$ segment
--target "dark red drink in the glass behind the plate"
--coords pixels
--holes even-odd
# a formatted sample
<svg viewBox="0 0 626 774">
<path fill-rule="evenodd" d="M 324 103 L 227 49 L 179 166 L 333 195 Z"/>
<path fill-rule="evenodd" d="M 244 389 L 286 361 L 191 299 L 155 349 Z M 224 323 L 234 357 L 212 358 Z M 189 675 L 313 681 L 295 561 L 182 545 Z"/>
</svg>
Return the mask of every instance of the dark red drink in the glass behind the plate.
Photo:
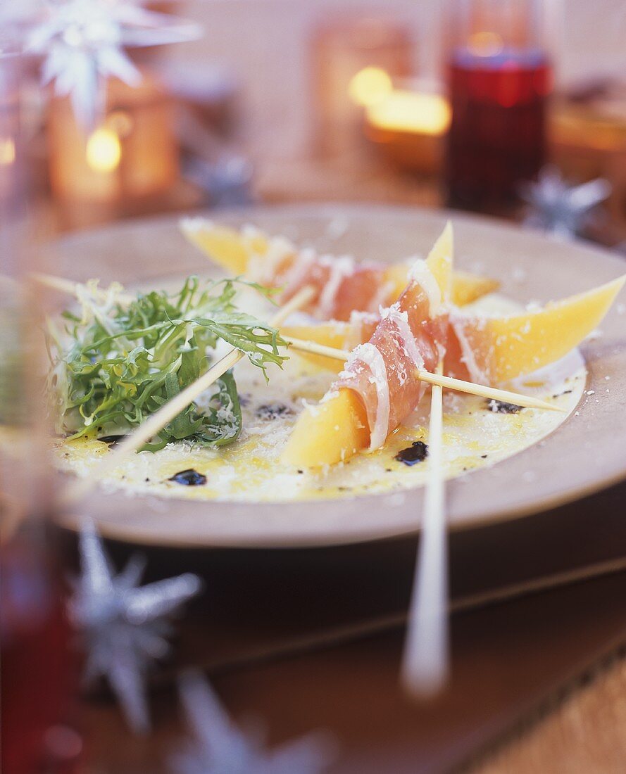
<svg viewBox="0 0 626 774">
<path fill-rule="evenodd" d="M 539 52 L 454 54 L 445 165 L 450 206 L 497 210 L 514 203 L 519 183 L 545 163 L 550 85 L 551 69 Z"/>
</svg>

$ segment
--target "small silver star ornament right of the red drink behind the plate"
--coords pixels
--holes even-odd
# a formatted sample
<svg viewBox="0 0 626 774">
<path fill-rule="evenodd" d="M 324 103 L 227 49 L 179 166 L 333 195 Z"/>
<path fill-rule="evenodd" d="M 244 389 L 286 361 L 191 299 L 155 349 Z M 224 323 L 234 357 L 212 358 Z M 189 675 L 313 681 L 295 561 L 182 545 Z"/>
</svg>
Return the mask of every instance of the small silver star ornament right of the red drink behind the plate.
<svg viewBox="0 0 626 774">
<path fill-rule="evenodd" d="M 597 178 L 570 186 L 554 167 L 545 167 L 536 183 L 525 183 L 521 197 L 528 204 L 524 224 L 542 228 L 561 238 L 580 235 L 593 217 L 593 209 L 611 194 L 611 184 Z"/>
</svg>

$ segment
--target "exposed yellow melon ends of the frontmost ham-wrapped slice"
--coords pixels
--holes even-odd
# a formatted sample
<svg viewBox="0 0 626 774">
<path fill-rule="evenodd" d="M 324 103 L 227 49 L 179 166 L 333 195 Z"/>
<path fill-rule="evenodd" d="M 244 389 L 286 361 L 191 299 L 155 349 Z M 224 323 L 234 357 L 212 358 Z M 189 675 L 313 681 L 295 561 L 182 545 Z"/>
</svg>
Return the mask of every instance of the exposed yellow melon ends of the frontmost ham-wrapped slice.
<svg viewBox="0 0 626 774">
<path fill-rule="evenodd" d="M 442 298 L 447 298 L 452 274 L 452 226 L 449 223 L 435 242 L 426 263 L 439 284 Z M 324 327 L 328 331 L 328 340 L 332 341 L 332 324 Z M 282 460 L 295 467 L 323 467 L 346 461 L 369 445 L 370 428 L 365 406 L 356 392 L 342 388 L 318 406 L 304 409 Z"/>
</svg>

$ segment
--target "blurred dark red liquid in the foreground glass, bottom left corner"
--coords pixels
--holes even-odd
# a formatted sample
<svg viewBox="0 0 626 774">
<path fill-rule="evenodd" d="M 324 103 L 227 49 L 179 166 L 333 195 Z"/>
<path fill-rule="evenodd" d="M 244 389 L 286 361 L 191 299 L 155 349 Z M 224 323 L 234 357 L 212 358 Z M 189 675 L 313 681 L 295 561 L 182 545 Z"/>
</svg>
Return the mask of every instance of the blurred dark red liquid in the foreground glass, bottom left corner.
<svg viewBox="0 0 626 774">
<path fill-rule="evenodd" d="M 50 570 L 46 557 L 19 539 L 0 549 L 3 774 L 74 771 L 67 739 L 70 748 L 80 740 L 62 725 L 74 687 L 70 632 Z"/>
</svg>

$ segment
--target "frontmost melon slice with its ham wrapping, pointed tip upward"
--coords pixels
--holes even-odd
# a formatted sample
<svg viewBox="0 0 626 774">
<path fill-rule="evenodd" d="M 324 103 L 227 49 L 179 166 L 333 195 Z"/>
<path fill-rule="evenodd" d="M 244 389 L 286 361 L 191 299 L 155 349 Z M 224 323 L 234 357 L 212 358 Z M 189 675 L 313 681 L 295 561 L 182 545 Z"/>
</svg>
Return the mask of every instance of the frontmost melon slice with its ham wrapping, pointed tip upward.
<svg viewBox="0 0 626 774">
<path fill-rule="evenodd" d="M 319 467 L 376 450 L 417 408 L 425 385 L 416 372 L 435 370 L 445 355 L 451 268 L 448 225 L 427 261 L 414 263 L 397 302 L 380 310 L 370 340 L 353 350 L 322 402 L 304 409 L 285 461 Z"/>
</svg>

